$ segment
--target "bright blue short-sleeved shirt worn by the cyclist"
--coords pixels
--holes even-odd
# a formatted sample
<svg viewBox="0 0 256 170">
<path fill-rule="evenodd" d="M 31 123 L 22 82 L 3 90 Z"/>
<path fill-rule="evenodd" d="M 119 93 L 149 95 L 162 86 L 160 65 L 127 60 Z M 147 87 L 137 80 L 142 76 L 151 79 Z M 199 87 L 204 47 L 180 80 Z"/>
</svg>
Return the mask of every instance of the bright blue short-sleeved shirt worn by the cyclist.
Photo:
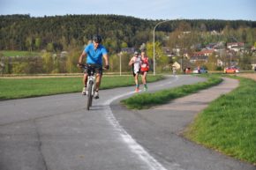
<svg viewBox="0 0 256 170">
<path fill-rule="evenodd" d="M 102 65 L 102 55 L 108 54 L 108 51 L 102 44 L 98 48 L 94 49 L 94 44 L 91 43 L 85 48 L 87 53 L 87 63 L 100 64 Z"/>
</svg>

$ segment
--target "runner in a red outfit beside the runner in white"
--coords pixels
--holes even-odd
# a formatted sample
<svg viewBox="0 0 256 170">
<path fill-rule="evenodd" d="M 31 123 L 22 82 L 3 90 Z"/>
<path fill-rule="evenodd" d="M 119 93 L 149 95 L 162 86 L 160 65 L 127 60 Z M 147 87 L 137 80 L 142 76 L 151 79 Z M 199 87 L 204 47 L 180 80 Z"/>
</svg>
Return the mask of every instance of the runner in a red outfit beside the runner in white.
<svg viewBox="0 0 256 170">
<path fill-rule="evenodd" d="M 140 74 L 142 78 L 142 83 L 144 85 L 144 91 L 147 91 L 147 72 L 149 70 L 148 57 L 146 51 L 141 51 L 141 64 L 140 64 Z"/>
</svg>

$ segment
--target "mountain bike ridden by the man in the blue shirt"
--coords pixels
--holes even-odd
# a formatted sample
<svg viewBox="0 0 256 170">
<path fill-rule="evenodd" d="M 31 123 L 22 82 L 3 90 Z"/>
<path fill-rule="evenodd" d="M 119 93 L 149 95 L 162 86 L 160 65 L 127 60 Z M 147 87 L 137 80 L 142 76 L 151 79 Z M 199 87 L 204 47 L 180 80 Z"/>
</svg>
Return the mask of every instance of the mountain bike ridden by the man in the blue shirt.
<svg viewBox="0 0 256 170">
<path fill-rule="evenodd" d="M 95 68 L 102 67 L 99 64 L 80 64 L 84 70 L 88 70 L 87 78 L 87 110 L 93 105 L 94 93 L 95 93 Z"/>
</svg>

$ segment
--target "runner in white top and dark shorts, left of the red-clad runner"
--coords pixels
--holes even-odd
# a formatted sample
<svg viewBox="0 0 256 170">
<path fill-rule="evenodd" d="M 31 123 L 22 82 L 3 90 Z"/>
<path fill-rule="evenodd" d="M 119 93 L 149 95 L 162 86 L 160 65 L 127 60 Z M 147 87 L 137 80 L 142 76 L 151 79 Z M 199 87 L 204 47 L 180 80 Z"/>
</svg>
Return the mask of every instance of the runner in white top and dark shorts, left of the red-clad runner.
<svg viewBox="0 0 256 170">
<path fill-rule="evenodd" d="M 132 66 L 132 73 L 135 81 L 135 92 L 139 92 L 139 71 L 140 71 L 140 63 L 141 63 L 141 57 L 138 53 L 138 51 L 134 52 L 134 55 L 132 56 L 129 65 Z"/>
</svg>

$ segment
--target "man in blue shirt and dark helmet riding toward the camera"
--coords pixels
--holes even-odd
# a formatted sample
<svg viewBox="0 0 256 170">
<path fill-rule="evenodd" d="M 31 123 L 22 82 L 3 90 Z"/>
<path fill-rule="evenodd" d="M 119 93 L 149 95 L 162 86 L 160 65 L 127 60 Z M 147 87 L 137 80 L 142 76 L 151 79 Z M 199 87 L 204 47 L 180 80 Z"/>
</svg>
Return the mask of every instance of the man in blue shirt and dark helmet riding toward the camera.
<svg viewBox="0 0 256 170">
<path fill-rule="evenodd" d="M 83 63 L 84 57 L 87 57 L 87 64 L 98 65 L 99 67 L 95 67 L 96 73 L 96 85 L 95 85 L 95 93 L 94 98 L 99 99 L 99 88 L 102 80 L 102 57 L 105 61 L 104 69 L 109 70 L 109 55 L 107 49 L 102 46 L 102 37 L 100 35 L 94 35 L 93 42 L 88 44 L 87 47 L 83 50 L 82 54 L 79 56 L 79 65 Z M 89 70 L 85 70 L 85 74 L 83 77 L 83 91 L 82 94 L 87 94 L 87 72 Z"/>
</svg>

